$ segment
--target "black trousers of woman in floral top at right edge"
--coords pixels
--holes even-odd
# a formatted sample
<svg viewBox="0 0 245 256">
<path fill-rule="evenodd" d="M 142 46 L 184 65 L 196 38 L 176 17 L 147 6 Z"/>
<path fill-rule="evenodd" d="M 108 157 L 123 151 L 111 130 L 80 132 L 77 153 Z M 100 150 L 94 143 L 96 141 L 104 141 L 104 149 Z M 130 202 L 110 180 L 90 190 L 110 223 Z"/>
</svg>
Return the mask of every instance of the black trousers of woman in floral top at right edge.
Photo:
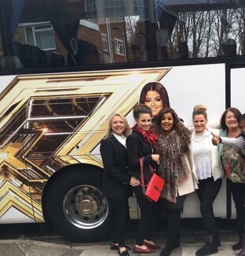
<svg viewBox="0 0 245 256">
<path fill-rule="evenodd" d="M 236 207 L 236 224 L 239 232 L 239 236 L 243 237 L 244 224 L 245 224 L 245 184 L 233 183 L 227 179 L 228 186 L 232 191 L 232 198 Z"/>
</svg>

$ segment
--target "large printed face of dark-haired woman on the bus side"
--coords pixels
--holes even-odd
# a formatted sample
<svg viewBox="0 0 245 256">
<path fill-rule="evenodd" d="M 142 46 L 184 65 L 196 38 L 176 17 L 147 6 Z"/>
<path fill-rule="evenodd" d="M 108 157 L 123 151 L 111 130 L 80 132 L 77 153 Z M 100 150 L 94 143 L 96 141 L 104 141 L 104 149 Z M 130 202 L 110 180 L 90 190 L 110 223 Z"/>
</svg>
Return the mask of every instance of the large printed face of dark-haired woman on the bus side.
<svg viewBox="0 0 245 256">
<path fill-rule="evenodd" d="M 148 91 L 145 95 L 144 105 L 152 109 L 152 116 L 156 117 L 161 109 L 163 109 L 163 101 L 157 91 Z"/>
</svg>

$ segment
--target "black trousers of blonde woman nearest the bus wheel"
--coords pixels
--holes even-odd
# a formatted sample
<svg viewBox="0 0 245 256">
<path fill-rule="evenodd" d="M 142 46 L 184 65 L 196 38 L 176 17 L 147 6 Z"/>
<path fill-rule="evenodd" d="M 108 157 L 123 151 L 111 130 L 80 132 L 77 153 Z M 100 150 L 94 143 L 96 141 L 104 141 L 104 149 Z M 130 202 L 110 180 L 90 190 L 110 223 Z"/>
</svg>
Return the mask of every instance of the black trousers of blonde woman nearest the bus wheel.
<svg viewBox="0 0 245 256">
<path fill-rule="evenodd" d="M 128 217 L 128 200 L 108 198 L 109 214 L 111 217 L 111 241 L 125 247 L 126 220 Z"/>
</svg>

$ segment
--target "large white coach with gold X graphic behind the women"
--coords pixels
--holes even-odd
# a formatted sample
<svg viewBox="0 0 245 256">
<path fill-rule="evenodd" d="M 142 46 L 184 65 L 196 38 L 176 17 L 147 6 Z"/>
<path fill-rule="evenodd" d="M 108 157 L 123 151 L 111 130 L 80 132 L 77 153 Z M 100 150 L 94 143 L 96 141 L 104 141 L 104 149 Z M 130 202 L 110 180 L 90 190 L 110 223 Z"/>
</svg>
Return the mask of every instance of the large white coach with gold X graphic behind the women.
<svg viewBox="0 0 245 256">
<path fill-rule="evenodd" d="M 152 81 L 189 128 L 197 104 L 214 128 L 229 106 L 244 113 L 244 13 L 238 0 L 0 0 L 0 223 L 104 239 L 108 119 L 133 126 Z M 225 178 L 214 213 L 236 217 Z M 182 217 L 200 217 L 195 193 Z"/>
</svg>

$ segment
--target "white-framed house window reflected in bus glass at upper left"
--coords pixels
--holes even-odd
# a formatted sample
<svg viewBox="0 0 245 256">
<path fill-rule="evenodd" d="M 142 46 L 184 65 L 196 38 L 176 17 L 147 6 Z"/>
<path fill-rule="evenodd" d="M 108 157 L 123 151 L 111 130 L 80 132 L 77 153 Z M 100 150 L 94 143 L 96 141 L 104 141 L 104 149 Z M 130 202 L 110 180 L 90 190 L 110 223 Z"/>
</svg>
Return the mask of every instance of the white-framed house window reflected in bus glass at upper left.
<svg viewBox="0 0 245 256">
<path fill-rule="evenodd" d="M 53 27 L 50 23 L 35 24 L 25 28 L 27 44 L 38 46 L 42 50 L 55 50 Z"/>
</svg>

